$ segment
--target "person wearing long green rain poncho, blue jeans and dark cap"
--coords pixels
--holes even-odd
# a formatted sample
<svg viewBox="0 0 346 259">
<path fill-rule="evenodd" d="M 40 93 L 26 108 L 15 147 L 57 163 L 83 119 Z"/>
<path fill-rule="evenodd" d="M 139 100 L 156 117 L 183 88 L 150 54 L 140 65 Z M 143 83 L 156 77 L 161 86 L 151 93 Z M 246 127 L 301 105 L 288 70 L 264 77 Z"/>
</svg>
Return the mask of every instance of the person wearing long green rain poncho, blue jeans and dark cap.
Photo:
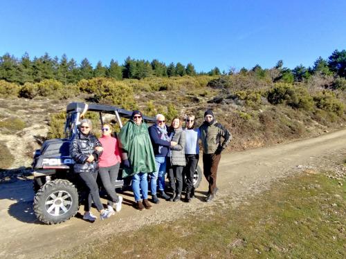
<svg viewBox="0 0 346 259">
<path fill-rule="evenodd" d="M 143 122 L 140 111 L 134 111 L 130 120 L 121 128 L 119 133 L 122 148 L 122 178 L 132 177 L 132 190 L 136 208 L 152 209 L 148 202 L 147 174 L 156 171 L 155 156 L 150 141 L 148 127 Z M 142 194 L 143 201 L 140 199 Z"/>
</svg>

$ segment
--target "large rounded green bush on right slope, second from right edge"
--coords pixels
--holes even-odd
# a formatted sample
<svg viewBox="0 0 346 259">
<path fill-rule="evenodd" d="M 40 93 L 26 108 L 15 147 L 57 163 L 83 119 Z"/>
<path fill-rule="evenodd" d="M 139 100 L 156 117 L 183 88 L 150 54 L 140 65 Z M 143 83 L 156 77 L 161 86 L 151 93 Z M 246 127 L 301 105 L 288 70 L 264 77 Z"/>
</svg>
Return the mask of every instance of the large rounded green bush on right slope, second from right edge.
<svg viewBox="0 0 346 259">
<path fill-rule="evenodd" d="M 277 83 L 267 92 L 268 102 L 271 104 L 286 104 L 292 108 L 302 108 L 306 111 L 313 110 L 313 98 L 307 89 L 292 86 L 286 83 Z"/>
</svg>

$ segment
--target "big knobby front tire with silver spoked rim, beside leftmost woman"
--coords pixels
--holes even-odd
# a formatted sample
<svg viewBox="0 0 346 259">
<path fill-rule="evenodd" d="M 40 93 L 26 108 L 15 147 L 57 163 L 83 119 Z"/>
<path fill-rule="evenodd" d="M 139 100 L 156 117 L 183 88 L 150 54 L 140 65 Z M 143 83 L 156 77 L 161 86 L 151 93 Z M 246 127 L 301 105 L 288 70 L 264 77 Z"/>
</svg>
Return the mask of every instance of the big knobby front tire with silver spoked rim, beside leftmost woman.
<svg viewBox="0 0 346 259">
<path fill-rule="evenodd" d="M 78 208 L 78 191 L 68 180 L 47 182 L 34 198 L 35 214 L 45 224 L 69 220 L 77 213 Z"/>
</svg>

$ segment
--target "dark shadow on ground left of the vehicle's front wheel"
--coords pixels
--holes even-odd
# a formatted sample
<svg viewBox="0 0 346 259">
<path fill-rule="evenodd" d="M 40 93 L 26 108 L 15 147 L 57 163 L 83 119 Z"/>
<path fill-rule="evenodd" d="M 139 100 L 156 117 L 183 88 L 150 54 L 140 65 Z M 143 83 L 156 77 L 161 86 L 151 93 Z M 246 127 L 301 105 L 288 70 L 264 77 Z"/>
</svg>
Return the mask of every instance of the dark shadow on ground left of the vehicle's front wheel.
<svg viewBox="0 0 346 259">
<path fill-rule="evenodd" d="M 25 176 L 15 176 L 23 168 L 6 170 L 7 176 L 1 181 L 0 200 L 11 200 L 15 203 L 8 207 L 8 215 L 30 224 L 42 224 L 37 220 L 33 211 L 33 198 L 35 193 L 32 188 L 32 180 Z M 0 169 L 0 171 L 5 171 Z"/>
</svg>

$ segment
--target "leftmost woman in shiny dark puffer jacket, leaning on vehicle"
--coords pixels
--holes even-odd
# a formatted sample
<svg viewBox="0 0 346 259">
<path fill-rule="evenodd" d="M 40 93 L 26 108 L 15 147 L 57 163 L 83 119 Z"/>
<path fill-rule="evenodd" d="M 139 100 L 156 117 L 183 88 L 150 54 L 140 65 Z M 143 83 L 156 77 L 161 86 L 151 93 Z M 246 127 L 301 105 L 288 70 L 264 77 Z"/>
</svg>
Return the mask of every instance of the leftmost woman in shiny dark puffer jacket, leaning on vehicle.
<svg viewBox="0 0 346 259">
<path fill-rule="evenodd" d="M 93 202 L 100 211 L 101 220 L 109 218 L 111 211 L 104 209 L 100 195 L 98 193 L 98 157 L 103 151 L 100 141 L 90 133 L 91 121 L 82 119 L 80 122 L 80 131 L 73 138 L 70 145 L 70 153 L 75 160 L 74 171 L 78 173 L 80 179 L 86 185 L 89 195 L 84 203 L 84 220 L 94 221 L 95 215 L 90 212 L 91 202 Z"/>
</svg>

